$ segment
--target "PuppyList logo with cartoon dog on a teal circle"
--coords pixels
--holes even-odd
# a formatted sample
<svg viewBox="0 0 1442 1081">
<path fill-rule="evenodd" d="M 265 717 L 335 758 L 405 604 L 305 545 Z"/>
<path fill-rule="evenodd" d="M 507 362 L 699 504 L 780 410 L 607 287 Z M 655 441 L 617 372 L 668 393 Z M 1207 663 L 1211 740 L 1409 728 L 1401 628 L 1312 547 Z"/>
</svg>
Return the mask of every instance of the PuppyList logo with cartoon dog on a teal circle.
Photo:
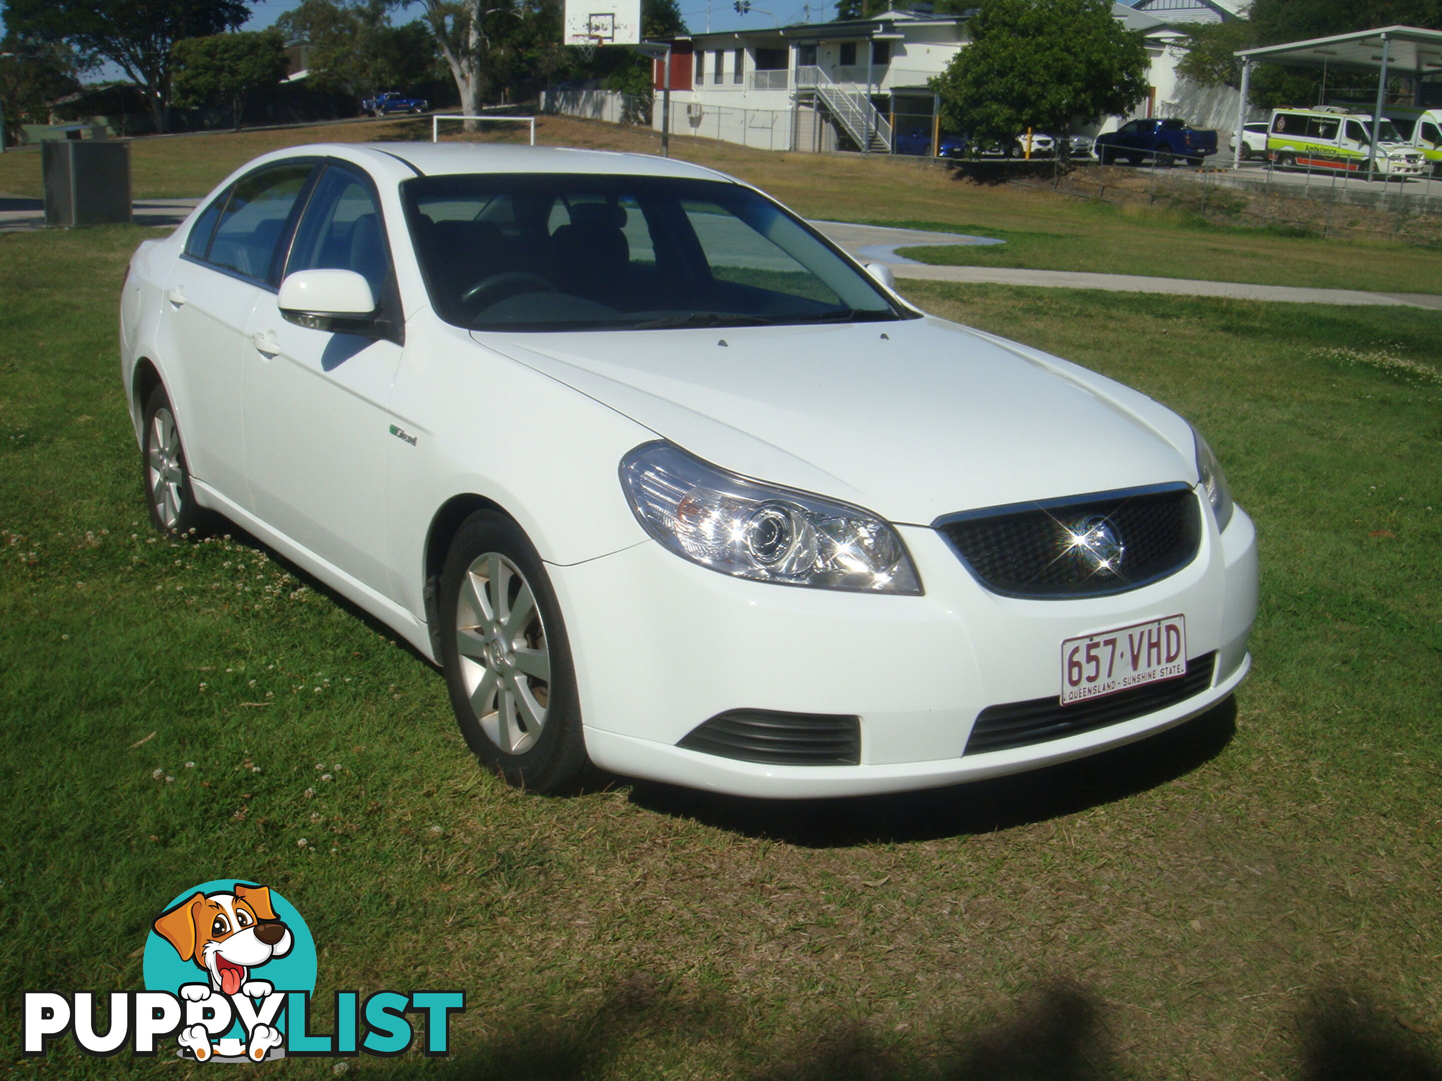
<svg viewBox="0 0 1442 1081">
<path fill-rule="evenodd" d="M 421 1028 L 427 1055 L 450 1054 L 450 1016 L 464 992 L 336 992 L 335 1032 L 311 1031 L 316 944 L 284 897 L 238 879 L 202 882 L 154 918 L 143 992 L 110 992 L 98 1032 L 95 992 L 26 992 L 23 1051 L 71 1036 L 88 1055 L 154 1055 L 174 1036 L 182 1058 L 264 1062 L 286 1055 L 401 1055 Z M 420 1015 L 420 1016 L 408 1016 Z"/>
</svg>

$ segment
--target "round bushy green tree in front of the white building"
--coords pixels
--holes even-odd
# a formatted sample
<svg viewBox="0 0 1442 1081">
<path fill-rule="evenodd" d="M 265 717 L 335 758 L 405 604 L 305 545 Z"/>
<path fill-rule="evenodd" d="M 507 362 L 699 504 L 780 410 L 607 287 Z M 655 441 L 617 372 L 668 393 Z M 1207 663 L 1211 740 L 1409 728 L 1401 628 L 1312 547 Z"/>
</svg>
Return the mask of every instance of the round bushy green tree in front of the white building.
<svg viewBox="0 0 1442 1081">
<path fill-rule="evenodd" d="M 942 123 L 979 138 L 1064 133 L 1146 97 L 1146 49 L 1106 0 L 986 0 L 970 45 L 932 79 Z"/>
</svg>

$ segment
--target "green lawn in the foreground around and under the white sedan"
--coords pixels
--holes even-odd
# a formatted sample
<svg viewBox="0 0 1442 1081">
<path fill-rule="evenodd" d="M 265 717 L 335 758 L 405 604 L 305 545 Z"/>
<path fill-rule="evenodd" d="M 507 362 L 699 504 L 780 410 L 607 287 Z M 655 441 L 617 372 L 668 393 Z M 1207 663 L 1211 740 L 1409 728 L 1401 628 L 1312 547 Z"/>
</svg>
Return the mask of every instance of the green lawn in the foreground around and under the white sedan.
<svg viewBox="0 0 1442 1081">
<path fill-rule="evenodd" d="M 1206 431 L 1263 555 L 1234 713 L 906 797 L 547 800 L 265 551 L 149 532 L 114 329 L 143 235 L 0 236 L 0 1072 L 189 1077 L 22 1059 L 20 993 L 141 986 L 159 907 L 249 876 L 322 1000 L 466 990 L 453 1059 L 366 1077 L 1442 1074 L 1442 313 L 906 283 Z"/>
</svg>

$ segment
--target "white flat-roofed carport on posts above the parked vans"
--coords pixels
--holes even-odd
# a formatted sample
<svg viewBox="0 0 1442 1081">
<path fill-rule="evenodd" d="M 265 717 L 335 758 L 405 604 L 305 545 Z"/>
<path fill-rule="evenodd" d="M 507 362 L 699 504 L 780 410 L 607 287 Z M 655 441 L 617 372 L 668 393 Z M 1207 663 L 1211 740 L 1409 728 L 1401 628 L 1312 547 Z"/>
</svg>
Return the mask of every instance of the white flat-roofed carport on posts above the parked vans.
<svg viewBox="0 0 1442 1081">
<path fill-rule="evenodd" d="M 1252 65 L 1257 61 L 1268 61 L 1292 68 L 1377 72 L 1377 105 L 1371 112 L 1371 146 L 1367 156 L 1370 173 L 1377 156 L 1377 133 L 1381 127 L 1381 110 L 1386 107 L 1387 76 L 1410 75 L 1416 101 L 1422 104 L 1422 76 L 1442 72 L 1442 30 L 1386 26 L 1380 30 L 1360 30 L 1332 37 L 1314 37 L 1306 42 L 1240 49 L 1234 55 L 1242 58 L 1242 101 L 1237 105 L 1237 148 L 1231 161 L 1233 169 L 1242 164 L 1242 125 L 1247 118 Z"/>
</svg>

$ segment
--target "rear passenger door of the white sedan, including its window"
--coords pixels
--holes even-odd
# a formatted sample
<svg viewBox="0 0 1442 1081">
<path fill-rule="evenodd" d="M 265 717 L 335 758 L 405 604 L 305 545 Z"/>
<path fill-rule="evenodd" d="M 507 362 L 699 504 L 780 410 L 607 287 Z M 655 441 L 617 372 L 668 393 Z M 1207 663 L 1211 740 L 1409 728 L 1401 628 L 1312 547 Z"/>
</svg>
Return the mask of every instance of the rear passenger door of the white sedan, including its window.
<svg viewBox="0 0 1442 1081">
<path fill-rule="evenodd" d="M 267 291 L 311 161 L 265 166 L 206 208 L 166 278 L 160 349 L 190 473 L 249 507 L 241 365 L 251 313 Z"/>
</svg>

